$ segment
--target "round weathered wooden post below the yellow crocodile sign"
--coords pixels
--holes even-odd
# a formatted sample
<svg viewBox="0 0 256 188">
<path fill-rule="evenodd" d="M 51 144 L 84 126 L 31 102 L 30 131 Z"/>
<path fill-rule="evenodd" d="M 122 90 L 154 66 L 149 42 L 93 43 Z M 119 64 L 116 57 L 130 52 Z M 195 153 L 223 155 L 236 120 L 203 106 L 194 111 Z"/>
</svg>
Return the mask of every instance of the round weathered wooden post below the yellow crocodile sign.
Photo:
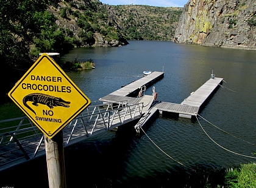
<svg viewBox="0 0 256 188">
<path fill-rule="evenodd" d="M 63 132 L 52 139 L 44 135 L 49 188 L 66 187 Z"/>
</svg>

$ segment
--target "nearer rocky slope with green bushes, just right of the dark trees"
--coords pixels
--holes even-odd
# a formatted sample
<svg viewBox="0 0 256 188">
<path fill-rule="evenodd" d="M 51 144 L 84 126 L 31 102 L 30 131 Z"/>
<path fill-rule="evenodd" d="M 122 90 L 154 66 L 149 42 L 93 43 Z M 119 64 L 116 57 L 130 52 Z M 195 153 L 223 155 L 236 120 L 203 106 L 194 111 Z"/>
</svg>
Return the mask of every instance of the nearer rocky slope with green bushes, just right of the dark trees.
<svg viewBox="0 0 256 188">
<path fill-rule="evenodd" d="M 98 0 L 61 1 L 48 8 L 65 35 L 80 46 L 118 46 L 127 44 L 121 31 L 109 18 L 105 5 Z"/>
</svg>

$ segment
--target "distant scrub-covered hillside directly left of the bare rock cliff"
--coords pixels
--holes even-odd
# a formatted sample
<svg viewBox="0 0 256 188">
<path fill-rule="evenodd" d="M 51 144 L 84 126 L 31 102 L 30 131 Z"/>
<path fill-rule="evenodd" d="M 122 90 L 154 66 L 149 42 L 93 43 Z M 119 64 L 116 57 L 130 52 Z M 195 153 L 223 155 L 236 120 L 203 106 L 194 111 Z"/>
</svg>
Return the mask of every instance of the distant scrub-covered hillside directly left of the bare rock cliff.
<svg viewBox="0 0 256 188">
<path fill-rule="evenodd" d="M 171 41 L 182 8 L 106 5 L 108 15 L 127 39 Z"/>
</svg>

